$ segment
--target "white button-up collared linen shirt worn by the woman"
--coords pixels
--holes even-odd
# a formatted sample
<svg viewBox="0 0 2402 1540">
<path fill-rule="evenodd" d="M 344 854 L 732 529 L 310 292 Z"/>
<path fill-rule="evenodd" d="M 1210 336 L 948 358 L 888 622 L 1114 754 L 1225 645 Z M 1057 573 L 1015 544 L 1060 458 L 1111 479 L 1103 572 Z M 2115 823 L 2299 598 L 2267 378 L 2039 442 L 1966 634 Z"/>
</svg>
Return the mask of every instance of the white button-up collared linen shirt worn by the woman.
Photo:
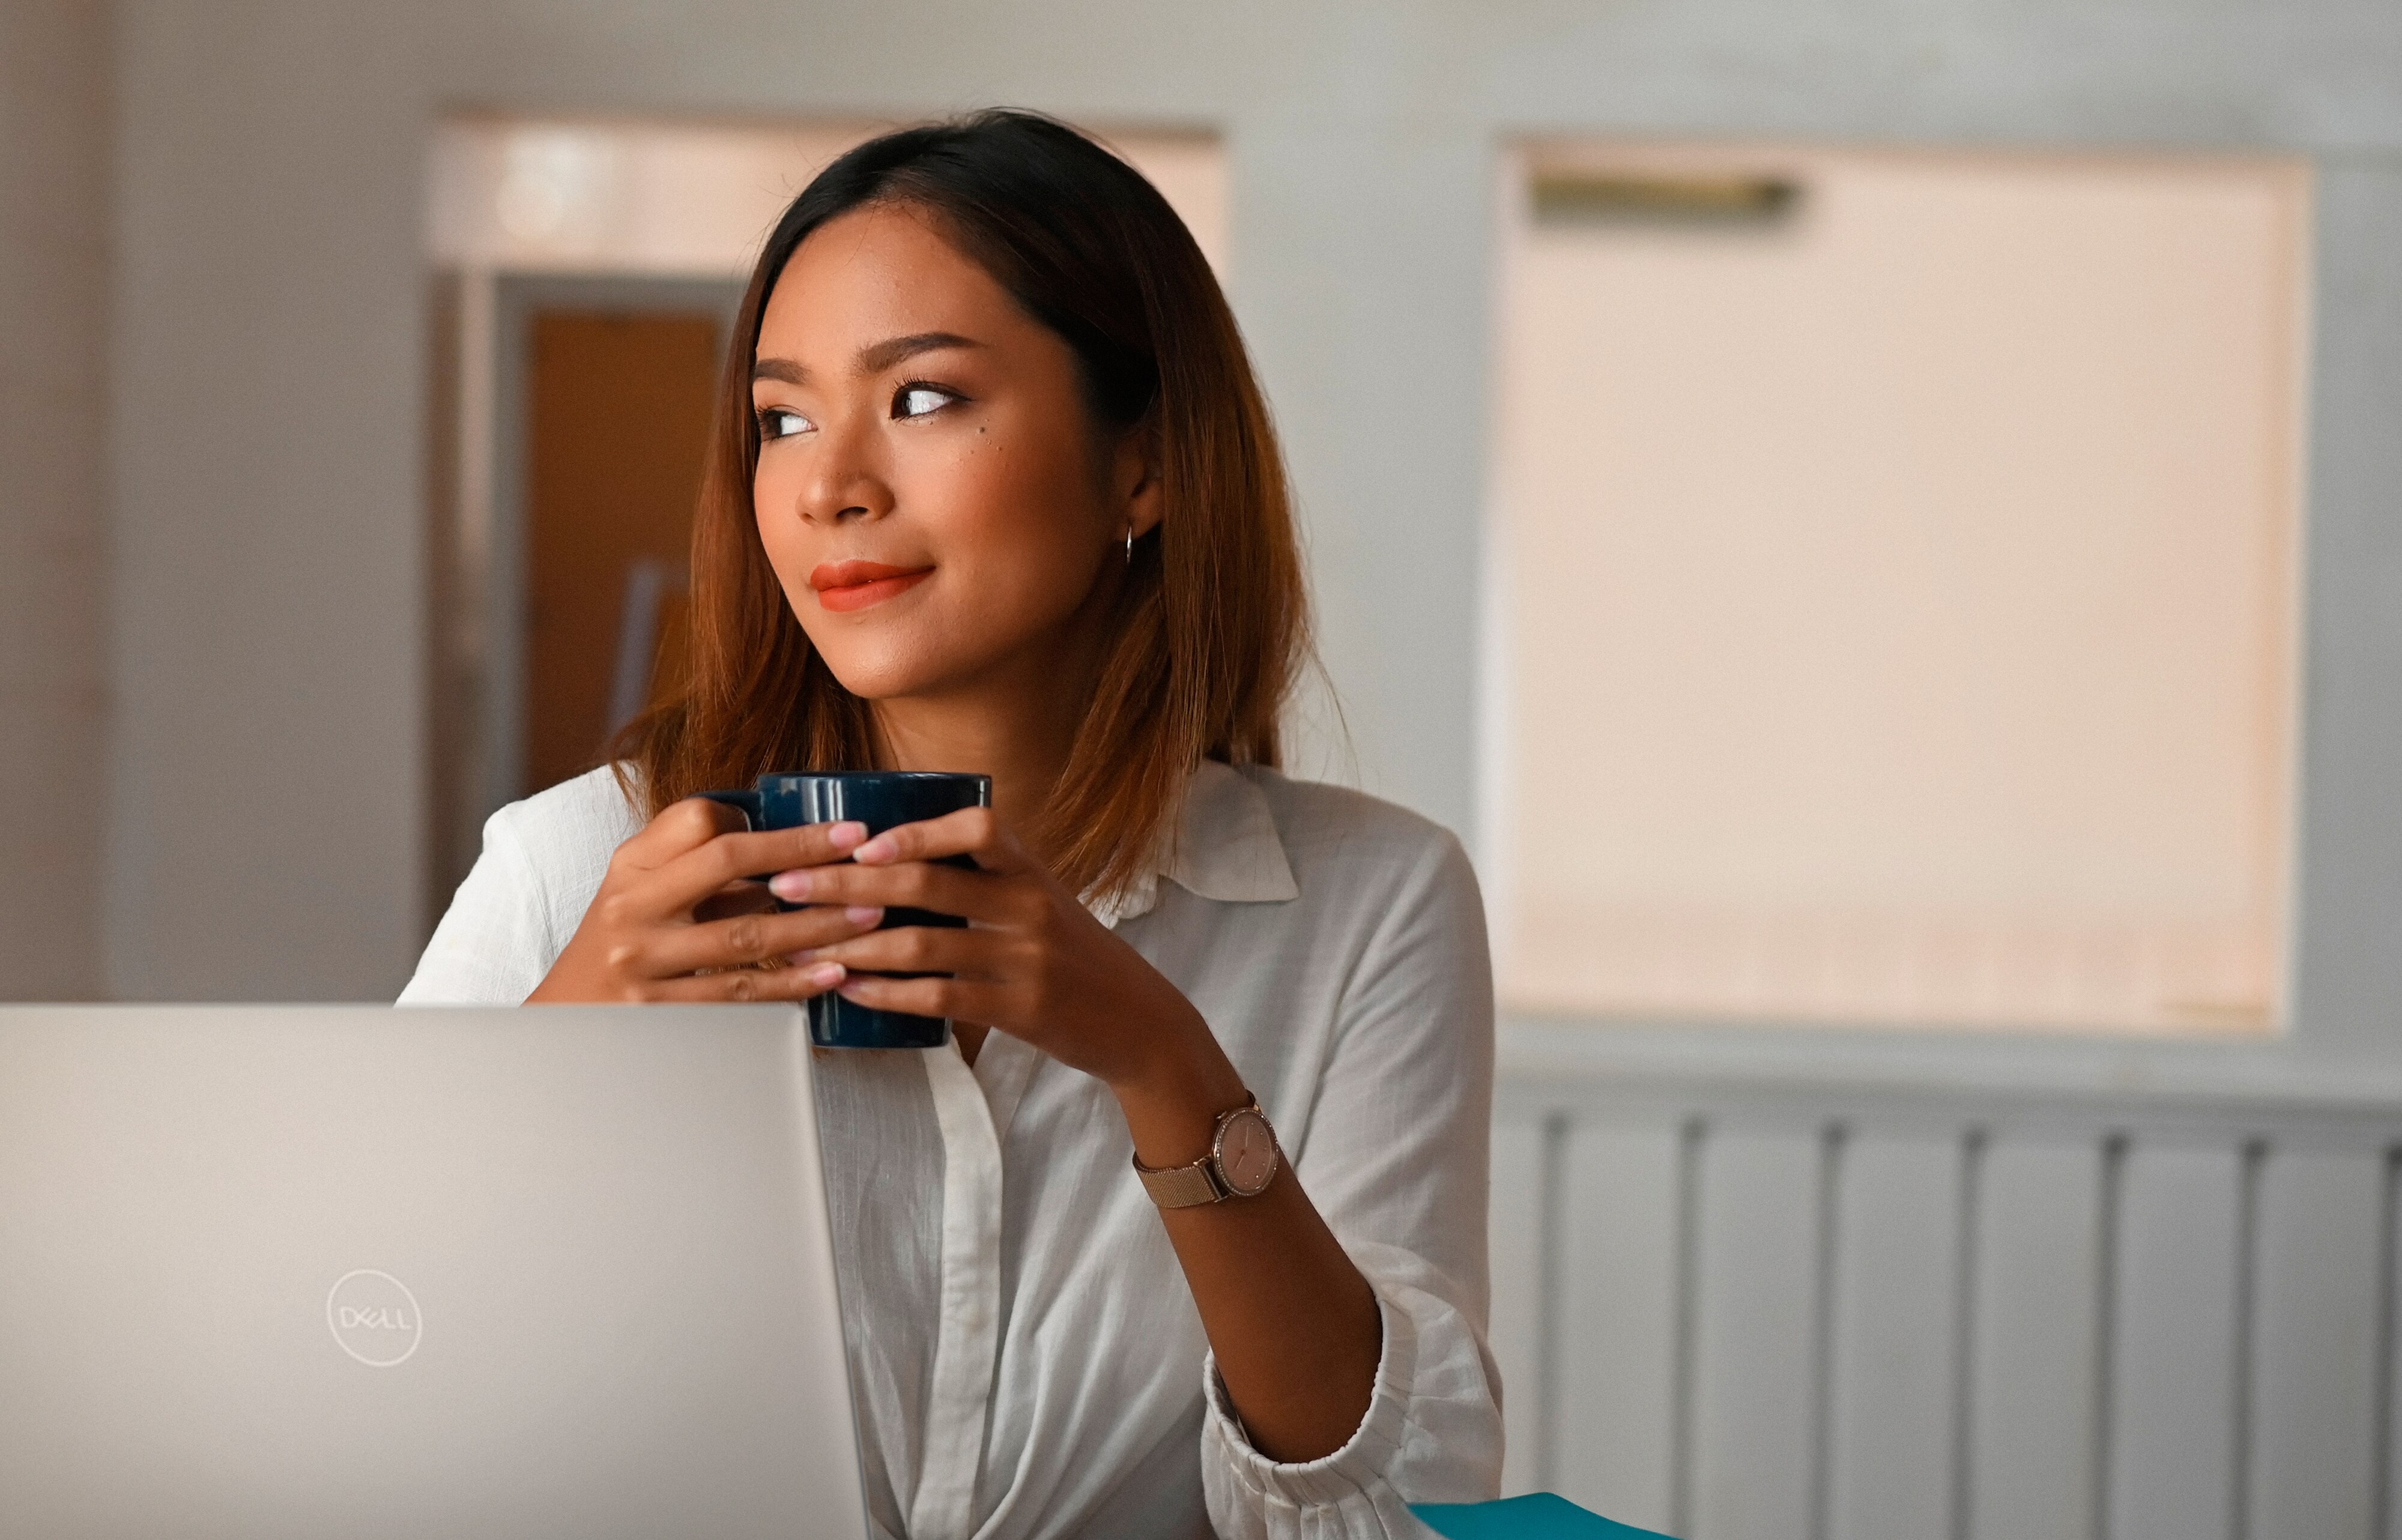
<svg viewBox="0 0 2402 1540">
<path fill-rule="evenodd" d="M 608 769 L 495 812 L 401 1004 L 524 1002 L 639 826 Z M 1405 1504 L 1499 1487 L 1468 858 L 1374 798 L 1203 764 L 1160 875 L 1095 913 L 1199 1007 L 1376 1290 L 1367 1417 L 1319 1461 L 1251 1449 L 1100 1081 L 1004 1033 L 973 1069 L 956 1047 L 817 1050 L 882 1535 L 1417 1538 Z"/>
</svg>

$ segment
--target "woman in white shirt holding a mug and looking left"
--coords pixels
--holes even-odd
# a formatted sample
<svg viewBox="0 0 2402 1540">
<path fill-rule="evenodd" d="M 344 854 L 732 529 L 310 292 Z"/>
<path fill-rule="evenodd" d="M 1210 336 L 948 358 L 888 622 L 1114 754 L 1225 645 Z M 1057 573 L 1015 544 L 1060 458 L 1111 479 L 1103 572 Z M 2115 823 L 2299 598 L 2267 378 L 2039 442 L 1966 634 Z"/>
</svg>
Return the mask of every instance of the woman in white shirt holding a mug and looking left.
<svg viewBox="0 0 2402 1540">
<path fill-rule="evenodd" d="M 404 1002 L 956 1019 L 817 1055 L 891 1535 L 1410 1535 L 1492 1497 L 1475 877 L 1273 769 L 1299 555 L 1167 202 L 1026 113 L 829 166 L 745 296 L 692 569 L 682 697 L 492 817 Z M 800 766 L 982 771 L 992 807 L 865 838 L 692 795 Z M 754 872 L 805 908 L 723 913 Z"/>
</svg>

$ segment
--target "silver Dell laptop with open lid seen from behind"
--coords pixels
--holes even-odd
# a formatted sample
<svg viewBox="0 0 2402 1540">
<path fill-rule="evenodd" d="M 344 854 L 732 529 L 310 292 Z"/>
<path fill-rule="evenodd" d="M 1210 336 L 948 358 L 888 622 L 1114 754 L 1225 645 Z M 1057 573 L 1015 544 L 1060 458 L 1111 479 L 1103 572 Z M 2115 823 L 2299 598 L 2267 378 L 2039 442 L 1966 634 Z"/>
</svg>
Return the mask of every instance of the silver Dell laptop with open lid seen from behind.
<svg viewBox="0 0 2402 1540">
<path fill-rule="evenodd" d="M 867 1530 L 783 1007 L 0 1007 L 0 1535 Z"/>
</svg>

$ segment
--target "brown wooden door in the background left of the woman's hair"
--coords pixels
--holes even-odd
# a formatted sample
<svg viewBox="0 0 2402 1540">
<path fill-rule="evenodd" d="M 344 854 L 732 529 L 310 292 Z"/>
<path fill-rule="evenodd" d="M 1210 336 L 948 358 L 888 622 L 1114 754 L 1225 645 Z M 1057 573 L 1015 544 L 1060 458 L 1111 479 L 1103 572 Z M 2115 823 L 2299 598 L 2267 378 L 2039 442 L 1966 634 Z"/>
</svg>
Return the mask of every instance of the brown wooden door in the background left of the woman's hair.
<svg viewBox="0 0 2402 1540">
<path fill-rule="evenodd" d="M 533 312 L 524 793 L 598 764 L 682 656 L 718 346 L 711 315 Z"/>
</svg>

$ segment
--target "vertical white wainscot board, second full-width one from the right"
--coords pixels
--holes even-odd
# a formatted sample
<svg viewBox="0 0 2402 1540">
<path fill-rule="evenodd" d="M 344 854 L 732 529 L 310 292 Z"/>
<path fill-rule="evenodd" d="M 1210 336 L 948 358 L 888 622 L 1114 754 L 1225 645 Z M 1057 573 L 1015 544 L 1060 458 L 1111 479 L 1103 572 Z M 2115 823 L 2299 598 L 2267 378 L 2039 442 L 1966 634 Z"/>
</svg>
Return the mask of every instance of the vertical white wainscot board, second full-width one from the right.
<svg viewBox="0 0 2402 1540">
<path fill-rule="evenodd" d="M 2128 1151 L 2111 1312 L 2111 1540 L 2234 1535 L 2239 1168 L 2231 1146 Z"/>
</svg>

